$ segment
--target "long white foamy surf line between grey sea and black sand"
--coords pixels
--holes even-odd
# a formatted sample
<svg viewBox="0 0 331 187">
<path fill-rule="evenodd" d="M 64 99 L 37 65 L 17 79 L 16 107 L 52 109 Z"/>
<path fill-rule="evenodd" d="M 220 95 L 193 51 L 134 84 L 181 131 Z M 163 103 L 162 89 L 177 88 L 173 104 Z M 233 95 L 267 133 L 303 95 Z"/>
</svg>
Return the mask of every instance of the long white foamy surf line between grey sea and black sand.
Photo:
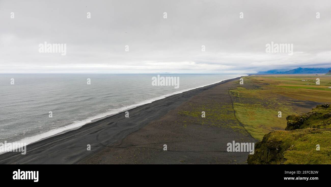
<svg viewBox="0 0 331 187">
<path fill-rule="evenodd" d="M 240 75 L 240 74 L 238 74 L 238 75 Z M 248 74 L 243 74 L 243 76 L 249 76 L 249 75 Z M 238 76 L 238 77 L 234 77 L 234 78 L 230 78 L 230 79 L 235 79 L 235 78 L 239 78 L 239 77 L 243 77 L 243 76 Z M 41 134 L 33 135 L 33 136 L 30 136 L 30 137 L 25 137 L 25 138 L 23 138 L 19 141 L 8 142 L 8 143 L 26 143 L 27 145 L 32 144 L 32 143 L 36 143 L 38 141 L 41 141 L 41 140 L 44 140 L 44 139 L 47 139 L 47 138 L 50 138 L 50 137 L 53 137 L 53 136 L 56 136 L 56 135 L 60 135 L 60 134 L 63 134 L 63 133 L 69 132 L 69 131 L 79 129 L 79 128 L 83 127 L 84 125 L 87 125 L 87 124 L 93 123 L 93 122 L 97 122 L 99 120 L 114 116 L 114 115 L 122 113 L 124 111 L 129 111 L 133 108 L 137 108 L 139 106 L 143 106 L 145 104 L 149 104 L 149 103 L 152 103 L 154 101 L 165 99 L 165 98 L 167 98 L 169 96 L 172 96 L 172 95 L 176 95 L 176 94 L 184 93 L 184 92 L 187 92 L 187 91 L 195 90 L 195 89 L 198 89 L 198 88 L 203 88 L 203 87 L 206 87 L 206 86 L 214 85 L 214 84 L 220 83 L 222 81 L 226 81 L 226 80 L 229 80 L 229 79 L 224 79 L 224 80 L 214 82 L 214 83 L 211 83 L 211 84 L 202 85 L 202 86 L 198 86 L 198 87 L 194 87 L 194 88 L 189 88 L 189 89 L 185 89 L 185 90 L 181 90 L 181 91 L 176 91 L 176 92 L 168 93 L 168 94 L 161 95 L 161 96 L 158 96 L 158 97 L 154 97 L 154 98 L 151 98 L 151 99 L 147 99 L 147 100 L 144 100 L 144 101 L 139 102 L 137 104 L 132 104 L 132 105 L 129 105 L 129 106 L 126 106 L 126 107 L 121 107 L 121 108 L 118 108 L 118 109 L 114 109 L 115 111 L 112 111 L 110 113 L 97 114 L 95 116 L 92 116 L 92 117 L 89 117 L 89 118 L 71 123 L 71 124 L 66 125 L 64 127 L 59 127 L 59 128 L 47 131 L 47 132 L 43 132 Z M 4 153 L 6 153 L 6 152 L 0 152 L 0 155 L 4 154 Z"/>
</svg>

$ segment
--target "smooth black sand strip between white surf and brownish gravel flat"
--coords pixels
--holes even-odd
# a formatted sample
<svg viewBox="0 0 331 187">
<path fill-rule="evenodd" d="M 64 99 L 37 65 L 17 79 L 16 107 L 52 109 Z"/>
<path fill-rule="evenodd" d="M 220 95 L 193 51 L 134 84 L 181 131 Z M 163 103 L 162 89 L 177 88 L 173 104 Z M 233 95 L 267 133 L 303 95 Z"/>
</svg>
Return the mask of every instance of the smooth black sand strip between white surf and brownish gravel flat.
<svg viewBox="0 0 331 187">
<path fill-rule="evenodd" d="M 245 74 L 245 76 L 247 76 L 247 74 Z M 238 76 L 238 77 L 242 77 L 242 76 Z M 101 148 L 104 147 L 105 145 L 106 146 L 112 145 L 112 144 L 122 140 L 123 138 L 125 138 L 128 134 L 139 130 L 144 125 L 147 125 L 150 121 L 153 121 L 154 119 L 158 119 L 159 117 L 163 116 L 165 114 L 165 112 L 168 111 L 167 109 L 163 108 L 162 105 L 164 103 L 170 102 L 170 104 L 167 104 L 167 108 L 173 109 L 174 107 L 179 106 L 182 102 L 185 102 L 187 100 L 187 97 L 192 97 L 195 94 L 200 93 L 202 90 L 209 89 L 216 85 L 226 83 L 226 82 L 234 80 L 238 77 L 222 80 L 215 84 L 203 86 L 203 87 L 192 89 L 192 90 L 185 91 L 182 93 L 173 94 L 168 97 L 153 101 L 151 103 L 143 104 L 143 105 L 134 107 L 130 110 L 125 110 L 125 111 L 130 112 L 130 118 L 132 119 L 132 117 L 131 117 L 132 113 L 142 112 L 144 109 L 146 109 L 146 108 L 149 109 L 151 107 L 158 108 L 154 111 L 154 113 L 156 113 L 156 114 L 153 115 L 153 117 L 154 117 L 153 119 L 151 117 L 149 119 L 144 119 L 144 118 L 141 119 L 141 117 L 137 117 L 137 118 L 139 118 L 141 123 L 139 123 L 139 120 L 138 121 L 133 120 L 132 122 L 134 122 L 134 123 L 129 123 L 129 125 L 128 125 L 129 127 L 127 127 L 128 122 L 122 123 L 123 116 L 124 116 L 122 114 L 124 114 L 124 112 L 123 111 L 118 112 L 112 116 L 104 117 L 104 118 L 96 120 L 94 122 L 90 122 L 85 125 L 82 125 L 81 127 L 77 128 L 75 130 L 71 130 L 71 131 L 61 133 L 61 134 L 49 136 L 47 138 L 36 141 L 34 143 L 28 144 L 26 155 L 21 155 L 21 153 L 18 153 L 18 152 L 5 152 L 0 155 L 0 163 L 4 163 L 4 164 L 9 164 L 9 163 L 16 163 L 16 164 L 20 164 L 20 163 L 22 163 L 22 164 L 23 163 L 74 164 L 74 163 L 78 162 L 80 159 L 82 159 L 86 156 L 90 156 L 91 154 L 96 153 L 97 151 L 100 151 Z M 161 108 L 163 108 L 163 110 Z M 120 120 L 120 122 L 118 120 Z M 110 122 L 110 121 L 112 121 L 112 122 Z M 136 124 L 137 122 L 138 122 L 138 124 Z M 118 123 L 121 123 L 120 126 L 122 129 L 117 127 L 117 126 L 119 126 Z M 96 132 L 103 132 L 103 128 L 107 128 L 107 126 L 109 127 L 109 125 L 113 125 L 116 127 L 111 126 L 110 129 L 113 128 L 115 130 L 110 130 L 107 132 L 108 135 L 111 134 L 112 136 L 111 137 L 107 136 L 107 138 L 104 142 L 100 142 L 99 134 L 97 137 L 93 137 L 93 138 L 84 136 L 84 134 L 90 135 L 90 134 L 96 133 Z M 79 136 L 79 138 L 73 138 L 75 136 Z M 98 140 L 97 142 L 95 142 L 96 139 Z M 68 141 L 63 141 L 63 140 L 68 140 Z M 76 144 L 79 144 L 79 143 L 77 143 L 77 141 L 79 141 L 79 142 L 84 141 L 86 143 L 81 144 L 81 146 L 78 146 L 78 145 L 76 145 Z M 76 143 L 73 143 L 73 142 L 76 142 Z M 81 149 L 86 150 L 86 145 L 89 144 L 89 142 L 92 142 L 91 146 L 93 144 L 94 146 L 97 147 L 97 149 L 94 149 L 90 153 L 86 153 L 86 151 L 82 151 Z M 98 144 L 98 145 L 96 145 L 96 144 Z M 67 152 L 62 153 L 61 151 L 59 151 L 59 149 L 63 150 L 64 147 L 70 146 L 70 145 L 76 145 L 74 150 L 72 150 L 71 155 L 68 154 Z M 49 147 L 51 147 L 51 149 Z M 78 149 L 78 147 L 80 150 Z M 49 152 L 48 154 L 52 154 L 52 153 L 57 154 L 57 156 L 52 156 L 53 162 L 50 162 L 50 160 L 47 158 L 43 158 L 42 159 L 43 161 L 41 161 L 40 159 L 38 159 L 39 157 L 41 157 L 40 155 L 44 155 L 47 153 L 41 154 L 40 152 L 42 152 L 42 151 L 40 151 L 40 150 L 44 150 L 44 152 Z M 31 151 L 32 151 L 32 154 L 31 154 Z M 33 156 L 34 154 L 37 154 L 39 156 Z M 73 155 L 75 155 L 76 157 L 72 157 Z M 55 162 L 54 162 L 54 157 L 56 157 Z M 68 157 L 70 157 L 70 158 L 68 158 Z M 22 161 L 22 159 L 26 160 L 26 161 Z"/>
</svg>

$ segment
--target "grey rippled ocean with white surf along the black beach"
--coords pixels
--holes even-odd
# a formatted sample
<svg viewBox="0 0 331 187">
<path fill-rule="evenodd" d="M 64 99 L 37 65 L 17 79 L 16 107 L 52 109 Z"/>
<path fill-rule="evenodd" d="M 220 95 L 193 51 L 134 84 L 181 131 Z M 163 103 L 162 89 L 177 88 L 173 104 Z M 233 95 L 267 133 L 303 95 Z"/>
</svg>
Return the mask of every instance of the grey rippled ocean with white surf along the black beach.
<svg viewBox="0 0 331 187">
<path fill-rule="evenodd" d="M 0 143 L 29 144 L 173 94 L 244 75 L 160 74 L 179 77 L 177 89 L 152 86 L 152 78 L 157 76 L 0 74 Z"/>
</svg>

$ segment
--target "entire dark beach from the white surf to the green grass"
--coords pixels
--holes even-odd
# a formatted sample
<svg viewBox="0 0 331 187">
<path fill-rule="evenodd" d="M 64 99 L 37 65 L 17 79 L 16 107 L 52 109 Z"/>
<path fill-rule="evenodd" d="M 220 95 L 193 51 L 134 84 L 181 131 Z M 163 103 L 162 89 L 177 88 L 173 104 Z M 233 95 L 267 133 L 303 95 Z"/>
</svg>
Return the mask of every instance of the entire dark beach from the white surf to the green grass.
<svg viewBox="0 0 331 187">
<path fill-rule="evenodd" d="M 231 104 L 239 78 L 169 96 L 0 155 L 0 164 L 245 164 L 248 152 L 227 152 L 228 142 L 256 142 L 234 118 L 215 125 L 186 124 L 179 111 L 193 104 Z M 200 113 L 201 115 L 201 113 Z M 220 114 L 221 115 L 221 114 Z M 185 124 L 183 124 L 185 123 Z M 87 150 L 87 145 L 91 150 Z M 167 151 L 163 145 L 167 144 Z"/>
</svg>

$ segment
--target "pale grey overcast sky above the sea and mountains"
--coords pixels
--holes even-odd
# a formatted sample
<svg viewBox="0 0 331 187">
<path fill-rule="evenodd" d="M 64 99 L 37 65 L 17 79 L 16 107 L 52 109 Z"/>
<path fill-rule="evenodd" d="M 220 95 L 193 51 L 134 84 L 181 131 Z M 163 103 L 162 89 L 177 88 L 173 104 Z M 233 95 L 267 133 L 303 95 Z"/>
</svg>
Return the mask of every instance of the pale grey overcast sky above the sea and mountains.
<svg viewBox="0 0 331 187">
<path fill-rule="evenodd" d="M 39 53 L 44 42 L 66 44 L 66 55 Z M 293 44 L 293 55 L 266 53 L 271 42 Z M 0 0 L 0 43 L 0 73 L 331 67 L 331 1 Z"/>
</svg>

